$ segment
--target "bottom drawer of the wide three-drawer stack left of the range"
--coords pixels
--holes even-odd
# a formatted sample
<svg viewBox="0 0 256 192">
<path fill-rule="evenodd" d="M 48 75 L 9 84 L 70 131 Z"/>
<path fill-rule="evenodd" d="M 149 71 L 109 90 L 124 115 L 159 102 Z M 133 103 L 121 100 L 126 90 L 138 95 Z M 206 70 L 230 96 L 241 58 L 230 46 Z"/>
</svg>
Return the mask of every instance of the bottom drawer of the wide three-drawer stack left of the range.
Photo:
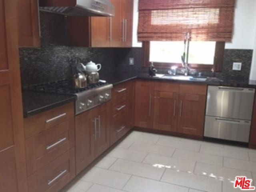
<svg viewBox="0 0 256 192">
<path fill-rule="evenodd" d="M 75 177 L 75 150 L 72 148 L 28 177 L 30 192 L 56 192 Z"/>
</svg>

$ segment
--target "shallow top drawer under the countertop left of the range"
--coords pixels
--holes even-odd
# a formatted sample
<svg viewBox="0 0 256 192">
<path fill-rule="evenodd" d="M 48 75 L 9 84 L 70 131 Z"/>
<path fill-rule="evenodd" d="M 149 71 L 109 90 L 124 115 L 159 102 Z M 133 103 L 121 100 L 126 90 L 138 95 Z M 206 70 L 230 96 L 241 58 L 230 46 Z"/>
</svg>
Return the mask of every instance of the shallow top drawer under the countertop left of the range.
<svg viewBox="0 0 256 192">
<path fill-rule="evenodd" d="M 25 138 L 56 126 L 72 117 L 74 117 L 73 102 L 26 118 L 24 119 Z"/>
</svg>

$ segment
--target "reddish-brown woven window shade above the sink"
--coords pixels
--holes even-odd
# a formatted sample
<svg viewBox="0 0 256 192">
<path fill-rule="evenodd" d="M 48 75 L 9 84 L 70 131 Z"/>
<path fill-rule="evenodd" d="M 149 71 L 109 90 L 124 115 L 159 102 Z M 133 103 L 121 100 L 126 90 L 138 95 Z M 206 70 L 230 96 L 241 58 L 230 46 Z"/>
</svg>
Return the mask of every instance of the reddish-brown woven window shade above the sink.
<svg viewBox="0 0 256 192">
<path fill-rule="evenodd" d="M 232 40 L 235 0 L 139 0 L 138 40 Z"/>
</svg>

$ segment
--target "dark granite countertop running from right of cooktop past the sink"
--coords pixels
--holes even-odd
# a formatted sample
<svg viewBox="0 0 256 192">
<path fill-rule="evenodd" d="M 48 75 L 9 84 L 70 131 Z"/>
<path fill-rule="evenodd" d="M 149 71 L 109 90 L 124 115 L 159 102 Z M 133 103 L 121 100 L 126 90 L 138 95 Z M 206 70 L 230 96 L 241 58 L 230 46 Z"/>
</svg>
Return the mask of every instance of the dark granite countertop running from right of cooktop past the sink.
<svg viewBox="0 0 256 192">
<path fill-rule="evenodd" d="M 247 87 L 247 88 L 256 88 L 256 81 L 244 82 L 241 80 L 235 80 L 232 78 L 226 77 L 222 82 L 216 81 L 197 81 L 197 80 L 173 80 L 159 77 L 150 77 L 148 74 L 132 74 L 126 72 L 114 72 L 100 74 L 100 79 L 106 80 L 108 83 L 113 85 L 126 82 L 133 79 L 144 79 L 144 80 L 159 80 L 159 81 L 170 81 L 170 82 L 184 82 L 184 83 L 193 83 L 193 84 L 207 84 L 207 85 L 216 85 L 216 86 L 232 86 L 232 87 Z"/>
</svg>

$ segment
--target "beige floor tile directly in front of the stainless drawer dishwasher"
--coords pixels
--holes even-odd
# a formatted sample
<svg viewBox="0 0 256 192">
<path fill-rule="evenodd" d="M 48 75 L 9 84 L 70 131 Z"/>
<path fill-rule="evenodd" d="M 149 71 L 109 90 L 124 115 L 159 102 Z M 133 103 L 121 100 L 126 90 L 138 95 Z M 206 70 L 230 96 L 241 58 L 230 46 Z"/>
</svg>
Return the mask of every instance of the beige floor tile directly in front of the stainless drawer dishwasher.
<svg viewBox="0 0 256 192">
<path fill-rule="evenodd" d="M 224 157 L 231 157 L 241 160 L 249 160 L 248 152 L 242 150 L 234 150 L 230 148 L 224 148 L 219 146 L 202 145 L 200 153 L 213 154 Z"/>
</svg>

